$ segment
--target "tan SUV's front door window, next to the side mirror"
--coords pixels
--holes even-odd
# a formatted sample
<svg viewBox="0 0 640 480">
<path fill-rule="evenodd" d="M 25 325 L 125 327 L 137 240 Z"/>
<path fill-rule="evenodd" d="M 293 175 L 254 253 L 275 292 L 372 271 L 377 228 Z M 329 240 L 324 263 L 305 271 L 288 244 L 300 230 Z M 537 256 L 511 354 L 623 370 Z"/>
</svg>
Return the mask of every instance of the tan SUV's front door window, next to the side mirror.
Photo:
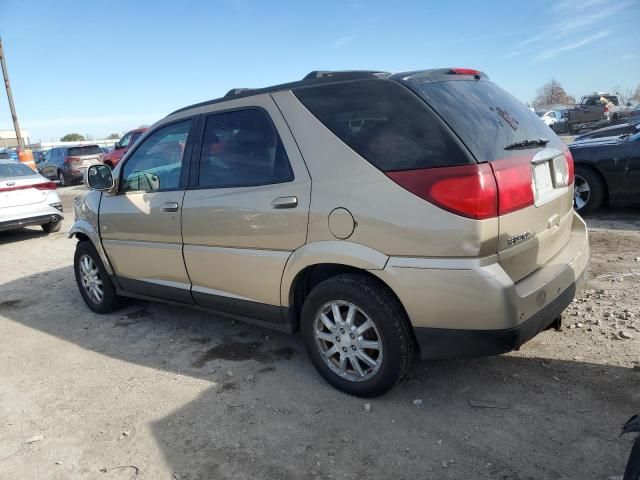
<svg viewBox="0 0 640 480">
<path fill-rule="evenodd" d="M 191 120 L 186 120 L 162 127 L 147 137 L 124 165 L 120 191 L 178 188 L 190 128 Z"/>
</svg>

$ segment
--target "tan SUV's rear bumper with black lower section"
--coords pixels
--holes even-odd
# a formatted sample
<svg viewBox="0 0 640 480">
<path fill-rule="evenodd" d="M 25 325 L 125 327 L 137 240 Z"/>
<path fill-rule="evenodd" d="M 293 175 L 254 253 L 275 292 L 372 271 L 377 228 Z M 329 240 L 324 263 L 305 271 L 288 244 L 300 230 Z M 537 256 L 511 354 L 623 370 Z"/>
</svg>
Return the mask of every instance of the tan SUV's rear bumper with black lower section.
<svg viewBox="0 0 640 480">
<path fill-rule="evenodd" d="M 518 282 L 497 255 L 474 259 L 392 257 L 370 270 L 396 293 L 422 358 L 493 355 L 520 347 L 571 303 L 589 262 L 586 225 L 574 214 L 565 246 Z"/>
</svg>

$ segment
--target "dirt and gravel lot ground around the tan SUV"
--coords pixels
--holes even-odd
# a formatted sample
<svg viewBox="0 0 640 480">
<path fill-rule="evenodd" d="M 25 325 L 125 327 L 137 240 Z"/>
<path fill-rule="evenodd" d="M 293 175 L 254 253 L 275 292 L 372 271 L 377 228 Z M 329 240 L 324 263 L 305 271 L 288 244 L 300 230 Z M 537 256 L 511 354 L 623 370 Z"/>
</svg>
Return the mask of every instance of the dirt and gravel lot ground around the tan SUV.
<svg viewBox="0 0 640 480">
<path fill-rule="evenodd" d="M 68 228 L 81 190 L 62 191 Z M 141 302 L 95 315 L 73 240 L 0 234 L 0 478 L 621 475 L 620 426 L 640 412 L 640 213 L 589 226 L 590 274 L 562 332 L 418 363 L 366 402 L 324 383 L 299 337 Z"/>
</svg>

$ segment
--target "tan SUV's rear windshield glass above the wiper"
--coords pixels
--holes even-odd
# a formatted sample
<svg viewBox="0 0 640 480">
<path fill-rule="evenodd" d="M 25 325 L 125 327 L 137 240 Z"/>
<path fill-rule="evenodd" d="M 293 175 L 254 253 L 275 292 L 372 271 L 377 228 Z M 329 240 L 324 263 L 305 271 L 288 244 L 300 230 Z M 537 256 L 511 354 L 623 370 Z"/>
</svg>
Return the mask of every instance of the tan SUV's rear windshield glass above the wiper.
<svg viewBox="0 0 640 480">
<path fill-rule="evenodd" d="M 562 144 L 529 107 L 495 83 L 445 81 L 413 86 L 460 136 L 479 162 L 520 156 L 505 150 L 515 142 L 546 138 L 547 147 Z"/>
</svg>

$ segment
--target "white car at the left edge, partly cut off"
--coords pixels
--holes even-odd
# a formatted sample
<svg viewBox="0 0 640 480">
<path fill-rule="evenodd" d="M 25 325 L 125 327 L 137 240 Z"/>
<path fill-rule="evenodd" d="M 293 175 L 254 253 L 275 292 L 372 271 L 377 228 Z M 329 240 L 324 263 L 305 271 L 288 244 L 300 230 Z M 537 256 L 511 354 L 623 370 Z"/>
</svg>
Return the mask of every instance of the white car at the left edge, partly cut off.
<svg viewBox="0 0 640 480">
<path fill-rule="evenodd" d="M 31 225 L 57 232 L 63 218 L 55 183 L 15 160 L 0 160 L 0 232 Z"/>
</svg>

